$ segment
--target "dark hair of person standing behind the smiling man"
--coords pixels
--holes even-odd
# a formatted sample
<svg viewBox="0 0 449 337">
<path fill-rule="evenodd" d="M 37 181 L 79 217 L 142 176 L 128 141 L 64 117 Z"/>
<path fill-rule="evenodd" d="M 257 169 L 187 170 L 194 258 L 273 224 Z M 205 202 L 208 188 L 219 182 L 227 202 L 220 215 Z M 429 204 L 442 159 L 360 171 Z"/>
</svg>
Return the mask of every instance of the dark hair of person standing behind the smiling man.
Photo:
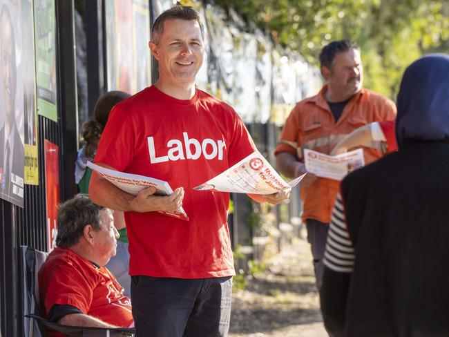
<svg viewBox="0 0 449 337">
<path fill-rule="evenodd" d="M 89 160 L 93 159 L 93 155 L 97 151 L 99 137 L 102 135 L 106 122 L 108 122 L 109 113 L 111 113 L 112 108 L 115 104 L 130 96 L 123 91 L 108 91 L 99 97 L 93 109 L 95 119 L 89 119 L 83 125 L 83 139 L 86 142 L 84 155 L 86 158 Z"/>
</svg>

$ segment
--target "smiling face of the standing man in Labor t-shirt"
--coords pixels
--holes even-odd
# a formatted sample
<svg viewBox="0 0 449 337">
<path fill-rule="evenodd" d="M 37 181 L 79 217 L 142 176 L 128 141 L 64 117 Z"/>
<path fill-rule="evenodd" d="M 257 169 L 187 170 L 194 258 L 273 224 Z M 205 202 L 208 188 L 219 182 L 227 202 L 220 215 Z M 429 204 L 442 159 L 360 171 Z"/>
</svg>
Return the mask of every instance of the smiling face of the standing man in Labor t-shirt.
<svg viewBox="0 0 449 337">
<path fill-rule="evenodd" d="M 170 19 L 164 21 L 160 41 L 150 43 L 159 62 L 160 79 L 171 86 L 195 83 L 204 54 L 200 25 L 195 20 Z"/>
</svg>

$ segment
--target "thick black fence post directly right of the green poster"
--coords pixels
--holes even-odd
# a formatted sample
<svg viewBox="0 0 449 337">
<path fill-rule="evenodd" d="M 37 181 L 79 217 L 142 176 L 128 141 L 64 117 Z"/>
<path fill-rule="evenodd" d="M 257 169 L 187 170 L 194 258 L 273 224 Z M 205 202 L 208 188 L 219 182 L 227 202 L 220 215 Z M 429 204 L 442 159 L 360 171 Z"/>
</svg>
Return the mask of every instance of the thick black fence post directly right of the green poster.
<svg viewBox="0 0 449 337">
<path fill-rule="evenodd" d="M 56 1 L 57 52 L 59 74 L 58 110 L 61 116 L 61 200 L 77 192 L 75 186 L 75 160 L 77 157 L 77 73 L 75 68 L 75 21 L 73 0 Z"/>
</svg>

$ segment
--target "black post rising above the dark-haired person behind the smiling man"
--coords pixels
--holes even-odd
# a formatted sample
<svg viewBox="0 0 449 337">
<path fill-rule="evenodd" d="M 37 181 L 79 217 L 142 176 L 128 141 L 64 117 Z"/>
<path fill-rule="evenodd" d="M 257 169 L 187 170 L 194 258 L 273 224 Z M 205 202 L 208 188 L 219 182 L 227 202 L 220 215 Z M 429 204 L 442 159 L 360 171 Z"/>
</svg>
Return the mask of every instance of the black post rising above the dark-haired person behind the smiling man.
<svg viewBox="0 0 449 337">
<path fill-rule="evenodd" d="M 106 88 L 103 8 L 103 0 L 86 0 L 88 111 L 93 111 L 98 97 Z"/>
</svg>

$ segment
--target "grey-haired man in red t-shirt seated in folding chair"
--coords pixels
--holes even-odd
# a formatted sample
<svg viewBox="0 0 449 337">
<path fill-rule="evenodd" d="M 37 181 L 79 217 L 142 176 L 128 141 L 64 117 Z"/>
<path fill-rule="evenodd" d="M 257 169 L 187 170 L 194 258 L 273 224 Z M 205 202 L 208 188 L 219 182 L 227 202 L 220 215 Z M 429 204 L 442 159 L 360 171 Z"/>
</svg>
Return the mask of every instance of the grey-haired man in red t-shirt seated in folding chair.
<svg viewBox="0 0 449 337">
<path fill-rule="evenodd" d="M 133 325 L 131 300 L 104 267 L 115 256 L 119 236 L 112 213 L 87 194 L 59 206 L 57 248 L 39 270 L 41 311 L 50 321 L 84 327 Z"/>
</svg>

